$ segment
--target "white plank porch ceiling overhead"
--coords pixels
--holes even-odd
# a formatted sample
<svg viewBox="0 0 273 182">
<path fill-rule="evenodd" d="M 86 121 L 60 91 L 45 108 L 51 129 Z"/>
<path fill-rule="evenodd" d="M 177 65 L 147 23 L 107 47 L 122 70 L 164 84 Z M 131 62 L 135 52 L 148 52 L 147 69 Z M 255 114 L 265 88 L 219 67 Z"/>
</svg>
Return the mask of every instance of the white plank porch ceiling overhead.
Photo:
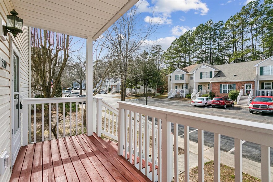
<svg viewBox="0 0 273 182">
<path fill-rule="evenodd" d="M 11 0 L 24 25 L 96 40 L 138 0 Z"/>
</svg>

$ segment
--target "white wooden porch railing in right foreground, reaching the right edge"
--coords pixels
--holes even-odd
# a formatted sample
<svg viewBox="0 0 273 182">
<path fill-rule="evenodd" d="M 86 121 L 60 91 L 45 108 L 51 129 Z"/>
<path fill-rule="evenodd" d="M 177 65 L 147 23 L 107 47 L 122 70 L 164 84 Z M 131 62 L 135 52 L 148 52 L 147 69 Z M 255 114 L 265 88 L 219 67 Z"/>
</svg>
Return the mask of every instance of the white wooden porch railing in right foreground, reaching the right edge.
<svg viewBox="0 0 273 182">
<path fill-rule="evenodd" d="M 184 174 L 185 181 L 189 181 L 189 127 L 198 129 L 198 181 L 204 181 L 204 130 L 214 133 L 214 181 L 220 181 L 220 140 L 221 135 L 235 138 L 235 181 L 242 181 L 242 140 L 261 145 L 261 171 L 262 181 L 269 182 L 270 175 L 270 147 L 273 147 L 273 140 L 264 140 L 264 138 L 273 138 L 273 126 L 271 124 L 262 124 L 239 119 L 224 118 L 211 115 L 203 115 L 184 111 L 177 111 L 154 106 L 145 106 L 141 104 L 118 102 L 119 103 L 119 135 L 118 135 L 118 154 L 127 158 L 127 115 L 130 118 L 134 113 L 141 113 L 152 118 L 151 128 L 151 158 L 152 158 L 152 180 L 156 181 L 158 171 L 158 181 L 172 180 L 173 143 L 171 140 L 171 123 L 174 124 L 174 174 L 175 182 L 178 181 L 178 124 L 184 125 Z M 132 119 L 130 119 L 132 122 Z M 130 127 L 132 123 L 130 123 Z M 148 156 L 150 131 L 146 124 L 143 126 L 142 119 L 139 122 L 139 133 L 144 132 L 144 137 L 139 137 L 138 151 L 141 156 Z M 136 126 L 136 122 L 134 122 Z M 155 126 L 158 126 L 156 133 Z M 136 127 L 135 127 L 136 128 Z M 137 135 L 136 130 L 129 130 L 129 140 L 136 142 L 137 138 L 132 138 L 132 131 Z M 158 145 L 156 146 L 156 141 Z M 145 145 L 142 145 L 146 141 Z M 131 147 L 129 147 L 131 149 Z M 135 150 L 137 146 L 135 145 Z M 134 155 L 136 156 L 136 155 Z M 140 161 L 140 166 L 142 160 Z M 147 162 L 144 160 L 147 164 Z M 156 163 L 158 170 L 156 170 Z M 146 165 L 147 166 L 147 165 Z M 139 167 L 141 170 L 141 167 Z M 146 169 L 147 170 L 147 169 Z M 147 175 L 147 173 L 146 173 Z"/>
</svg>

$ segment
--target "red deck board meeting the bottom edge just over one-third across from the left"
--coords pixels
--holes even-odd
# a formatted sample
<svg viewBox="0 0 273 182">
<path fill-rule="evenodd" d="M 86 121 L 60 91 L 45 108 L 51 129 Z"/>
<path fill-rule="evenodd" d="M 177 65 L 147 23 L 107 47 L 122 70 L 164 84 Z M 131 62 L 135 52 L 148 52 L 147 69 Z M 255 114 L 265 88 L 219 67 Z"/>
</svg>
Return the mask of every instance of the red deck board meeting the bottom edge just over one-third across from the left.
<svg viewBox="0 0 273 182">
<path fill-rule="evenodd" d="M 85 170 L 87 171 L 90 179 L 93 182 L 101 182 L 102 178 L 99 175 L 98 171 L 96 170 L 96 168 L 93 166 L 93 164 L 91 163 L 91 161 L 89 160 L 89 158 L 87 157 L 87 155 L 85 154 L 85 152 L 82 150 L 80 144 L 78 143 L 78 141 L 76 140 L 75 136 L 69 137 L 74 149 L 76 150 L 77 155 L 80 158 L 80 161 L 82 162 L 83 166 L 85 167 Z"/>
</svg>

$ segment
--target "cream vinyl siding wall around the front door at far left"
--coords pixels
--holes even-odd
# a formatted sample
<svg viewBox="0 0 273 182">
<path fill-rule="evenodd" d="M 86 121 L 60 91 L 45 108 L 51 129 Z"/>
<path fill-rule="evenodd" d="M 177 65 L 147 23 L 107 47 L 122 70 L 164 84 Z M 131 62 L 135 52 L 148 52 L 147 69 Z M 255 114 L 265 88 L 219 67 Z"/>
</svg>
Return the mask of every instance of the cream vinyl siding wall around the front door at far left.
<svg viewBox="0 0 273 182">
<path fill-rule="evenodd" d="M 13 10 L 13 5 L 10 1 L 0 1 L 0 14 L 3 24 L 6 25 L 7 15 Z M 19 15 L 20 17 L 20 15 Z M 1 25 L 2 28 L 2 25 Z M 11 42 L 17 46 L 20 51 L 20 95 L 22 98 L 28 98 L 29 94 L 29 80 L 28 80 L 28 27 L 23 27 L 23 33 L 18 33 L 14 38 L 9 33 L 6 36 L 6 41 L 0 40 L 0 56 L 7 61 L 7 69 L 0 68 L 0 154 L 7 150 L 11 155 Z M 21 113 L 21 142 L 22 142 L 22 113 Z M 11 161 L 10 161 L 11 164 Z M 4 174 L 0 176 L 0 181 L 9 181 L 11 177 L 11 166 L 5 170 Z"/>
</svg>

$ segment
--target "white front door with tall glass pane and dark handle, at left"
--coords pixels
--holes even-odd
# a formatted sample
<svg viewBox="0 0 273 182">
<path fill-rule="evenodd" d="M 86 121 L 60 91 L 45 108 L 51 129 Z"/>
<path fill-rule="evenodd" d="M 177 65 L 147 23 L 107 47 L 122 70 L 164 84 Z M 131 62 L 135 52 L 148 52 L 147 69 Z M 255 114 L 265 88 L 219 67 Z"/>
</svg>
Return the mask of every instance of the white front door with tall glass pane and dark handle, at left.
<svg viewBox="0 0 273 182">
<path fill-rule="evenodd" d="M 21 146 L 20 140 L 20 53 L 15 45 L 11 54 L 11 133 L 12 133 L 12 165 Z"/>
</svg>

